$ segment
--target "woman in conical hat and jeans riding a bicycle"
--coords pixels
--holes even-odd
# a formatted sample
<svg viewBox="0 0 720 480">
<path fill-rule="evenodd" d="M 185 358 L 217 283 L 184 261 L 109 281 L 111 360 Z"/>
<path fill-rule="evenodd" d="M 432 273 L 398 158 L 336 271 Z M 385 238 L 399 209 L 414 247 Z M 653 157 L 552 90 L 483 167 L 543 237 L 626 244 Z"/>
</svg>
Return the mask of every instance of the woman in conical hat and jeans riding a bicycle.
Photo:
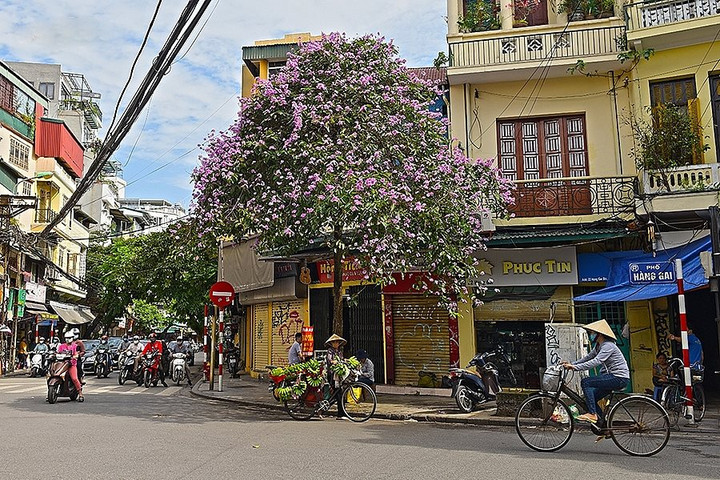
<svg viewBox="0 0 720 480">
<path fill-rule="evenodd" d="M 605 320 L 583 325 L 587 330 L 592 351 L 576 362 L 563 362 L 568 370 L 591 370 L 602 367 L 600 375 L 583 378 L 580 386 L 585 393 L 588 413 L 580 415 L 578 420 L 596 423 L 602 416 L 598 401 L 610 395 L 613 390 L 622 390 L 630 382 L 630 369 L 622 352 L 615 345 L 617 338 Z"/>
</svg>

